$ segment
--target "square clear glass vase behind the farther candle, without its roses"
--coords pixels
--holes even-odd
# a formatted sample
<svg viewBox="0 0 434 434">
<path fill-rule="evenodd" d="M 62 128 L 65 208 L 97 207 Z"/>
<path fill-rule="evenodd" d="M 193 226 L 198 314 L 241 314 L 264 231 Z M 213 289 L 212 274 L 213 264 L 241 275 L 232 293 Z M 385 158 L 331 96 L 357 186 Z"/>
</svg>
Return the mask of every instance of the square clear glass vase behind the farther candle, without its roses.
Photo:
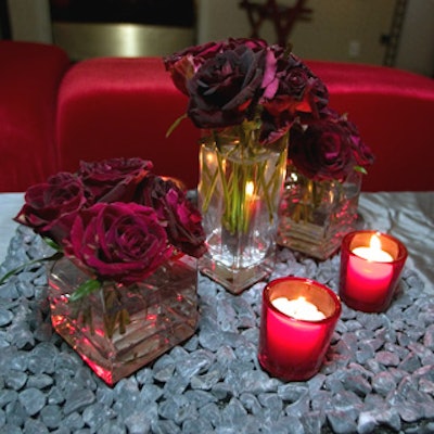
<svg viewBox="0 0 434 434">
<path fill-rule="evenodd" d="M 342 239 L 360 225 L 357 215 L 361 175 L 344 181 L 316 181 L 289 164 L 279 210 L 278 243 L 318 259 L 327 259 Z"/>
</svg>

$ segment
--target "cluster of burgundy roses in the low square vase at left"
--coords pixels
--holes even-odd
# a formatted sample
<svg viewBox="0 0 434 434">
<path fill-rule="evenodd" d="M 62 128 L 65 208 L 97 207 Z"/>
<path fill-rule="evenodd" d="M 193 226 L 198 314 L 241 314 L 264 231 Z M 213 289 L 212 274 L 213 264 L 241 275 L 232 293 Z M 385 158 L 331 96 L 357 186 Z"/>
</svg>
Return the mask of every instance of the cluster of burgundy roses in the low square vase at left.
<svg viewBox="0 0 434 434">
<path fill-rule="evenodd" d="M 200 257 L 205 251 L 199 210 L 173 180 L 154 175 L 152 163 L 141 158 L 81 162 L 75 174 L 53 175 L 27 190 L 14 220 L 55 248 L 48 259 L 64 256 L 86 276 L 69 303 L 107 282 L 131 286 L 176 255 Z M 88 311 L 76 314 L 89 320 Z M 112 335 L 128 317 L 120 309 L 105 320 Z"/>
</svg>

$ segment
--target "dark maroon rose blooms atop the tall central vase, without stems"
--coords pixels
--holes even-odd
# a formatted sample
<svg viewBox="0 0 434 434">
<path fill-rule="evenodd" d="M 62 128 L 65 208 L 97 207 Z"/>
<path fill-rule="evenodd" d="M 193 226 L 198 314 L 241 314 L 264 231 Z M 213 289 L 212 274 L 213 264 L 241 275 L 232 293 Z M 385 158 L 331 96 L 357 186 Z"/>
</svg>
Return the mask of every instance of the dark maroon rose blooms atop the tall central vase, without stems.
<svg viewBox="0 0 434 434">
<path fill-rule="evenodd" d="M 165 58 L 175 86 L 189 97 L 187 114 L 199 128 L 255 120 L 271 143 L 294 120 L 319 118 L 329 94 L 323 82 L 285 48 L 263 39 L 228 39 Z"/>
</svg>

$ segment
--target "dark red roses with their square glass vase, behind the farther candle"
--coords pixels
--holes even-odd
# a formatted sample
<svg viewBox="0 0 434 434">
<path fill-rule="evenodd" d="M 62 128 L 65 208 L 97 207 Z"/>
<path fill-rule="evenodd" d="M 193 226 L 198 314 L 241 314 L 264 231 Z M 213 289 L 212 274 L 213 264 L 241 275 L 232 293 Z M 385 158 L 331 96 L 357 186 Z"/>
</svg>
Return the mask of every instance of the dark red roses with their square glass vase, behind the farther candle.
<svg viewBox="0 0 434 434">
<path fill-rule="evenodd" d="M 278 242 L 326 259 L 355 229 L 361 176 L 373 163 L 357 127 L 326 107 L 293 124 Z"/>
</svg>

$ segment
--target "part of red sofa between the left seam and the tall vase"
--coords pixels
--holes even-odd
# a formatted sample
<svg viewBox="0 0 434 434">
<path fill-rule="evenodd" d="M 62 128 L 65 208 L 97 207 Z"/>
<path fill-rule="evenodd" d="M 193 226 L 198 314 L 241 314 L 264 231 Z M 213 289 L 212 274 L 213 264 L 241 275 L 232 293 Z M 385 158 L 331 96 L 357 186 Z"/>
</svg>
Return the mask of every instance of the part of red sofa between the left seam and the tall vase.
<svg viewBox="0 0 434 434">
<path fill-rule="evenodd" d="M 159 58 L 91 59 L 74 65 L 59 95 L 61 167 L 80 159 L 140 156 L 154 171 L 195 188 L 200 131 L 189 119 L 166 138 L 186 112 L 187 99 L 171 82 Z"/>
</svg>

